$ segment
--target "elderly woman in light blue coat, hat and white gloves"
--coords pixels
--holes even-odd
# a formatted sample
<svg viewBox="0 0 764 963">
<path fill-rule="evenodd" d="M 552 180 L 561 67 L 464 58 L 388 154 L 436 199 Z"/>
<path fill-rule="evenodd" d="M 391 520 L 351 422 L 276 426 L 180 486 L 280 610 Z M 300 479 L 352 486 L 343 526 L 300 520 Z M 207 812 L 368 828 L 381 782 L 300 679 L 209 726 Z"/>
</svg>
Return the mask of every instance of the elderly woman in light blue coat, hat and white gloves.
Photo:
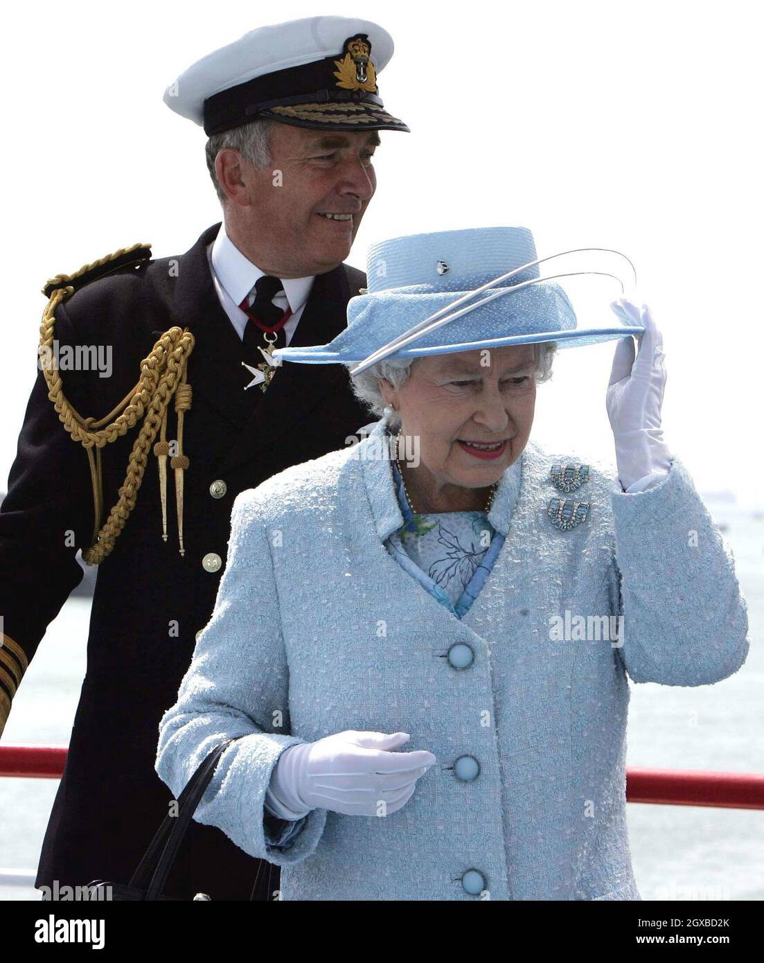
<svg viewBox="0 0 764 963">
<path fill-rule="evenodd" d="M 195 819 L 278 864 L 282 898 L 639 899 L 626 673 L 700 686 L 745 661 L 733 561 L 662 438 L 649 310 L 578 328 L 537 262 L 523 228 L 385 242 L 342 334 L 276 352 L 367 359 L 382 417 L 236 499 L 156 768 L 180 794 L 234 740 Z M 617 471 L 530 440 L 555 349 L 611 338 Z"/>
</svg>

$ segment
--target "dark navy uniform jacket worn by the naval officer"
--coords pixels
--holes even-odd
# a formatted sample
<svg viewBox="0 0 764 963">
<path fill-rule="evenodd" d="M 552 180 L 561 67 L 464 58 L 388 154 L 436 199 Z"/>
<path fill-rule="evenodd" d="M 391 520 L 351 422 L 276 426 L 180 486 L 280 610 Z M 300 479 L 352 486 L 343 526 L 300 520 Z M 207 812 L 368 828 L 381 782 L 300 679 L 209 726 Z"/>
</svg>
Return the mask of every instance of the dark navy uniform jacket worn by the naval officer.
<svg viewBox="0 0 764 963">
<path fill-rule="evenodd" d="M 169 469 L 162 539 L 157 458 L 150 454 L 136 508 L 98 566 L 88 670 L 37 886 L 52 887 L 54 879 L 59 886 L 96 878 L 128 882 L 172 799 L 154 770 L 159 721 L 176 700 L 196 634 L 213 612 L 234 499 L 290 465 L 342 448 L 349 434 L 369 422 L 340 365 L 285 363 L 265 394 L 258 386 L 243 390 L 252 376 L 242 367 L 242 341 L 216 296 L 207 261 L 206 247 L 218 228 L 208 228 L 180 257 L 153 259 L 92 281 L 56 312 L 60 346 L 113 347 L 112 377 L 62 371 L 64 393 L 83 416 L 102 418 L 127 395 L 140 377 L 141 359 L 167 328 L 189 327 L 195 346 L 183 446 L 191 461 L 185 472 L 186 554 L 178 551 Z M 347 265 L 318 274 L 291 344 L 331 341 L 346 325 L 348 299 L 365 283 L 364 273 Z M 47 394 L 39 371 L 0 510 L 0 612 L 14 643 L 0 650 L 6 706 L 24 656 L 32 659 L 48 623 L 82 580 L 75 555 L 89 546 L 93 531 L 88 455 L 64 430 Z M 171 402 L 168 438 L 175 437 L 175 418 Z M 118 499 L 141 424 L 101 450 L 102 522 Z M 202 565 L 211 554 L 222 561 L 217 571 Z M 248 899 L 257 877 L 264 898 L 278 887 L 277 870 L 269 880 L 267 872 L 258 874 L 267 867 L 216 827 L 191 822 L 166 894 Z"/>
</svg>

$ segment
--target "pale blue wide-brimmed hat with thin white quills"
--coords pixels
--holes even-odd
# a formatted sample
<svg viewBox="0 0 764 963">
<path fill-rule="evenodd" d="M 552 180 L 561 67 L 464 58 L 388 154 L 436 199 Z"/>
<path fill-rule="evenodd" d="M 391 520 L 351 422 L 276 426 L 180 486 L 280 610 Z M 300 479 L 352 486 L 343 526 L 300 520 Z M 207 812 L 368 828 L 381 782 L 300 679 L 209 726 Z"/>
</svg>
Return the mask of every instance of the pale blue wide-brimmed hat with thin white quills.
<svg viewBox="0 0 764 963">
<path fill-rule="evenodd" d="M 327 345 L 276 349 L 273 356 L 303 364 L 365 361 L 369 367 L 385 346 L 387 357 L 421 357 L 540 341 L 576 348 L 644 331 L 644 326 L 617 321 L 579 327 L 562 287 L 539 274 L 540 260 L 559 256 L 539 259 L 526 227 L 479 227 L 382 241 L 369 248 L 368 293 L 348 301 L 344 331 Z M 522 270 L 502 279 L 516 269 Z M 497 279 L 500 283 L 494 285 Z M 433 315 L 437 326 L 416 333 Z M 391 350 L 391 342 L 412 335 L 412 328 L 411 340 Z"/>
</svg>

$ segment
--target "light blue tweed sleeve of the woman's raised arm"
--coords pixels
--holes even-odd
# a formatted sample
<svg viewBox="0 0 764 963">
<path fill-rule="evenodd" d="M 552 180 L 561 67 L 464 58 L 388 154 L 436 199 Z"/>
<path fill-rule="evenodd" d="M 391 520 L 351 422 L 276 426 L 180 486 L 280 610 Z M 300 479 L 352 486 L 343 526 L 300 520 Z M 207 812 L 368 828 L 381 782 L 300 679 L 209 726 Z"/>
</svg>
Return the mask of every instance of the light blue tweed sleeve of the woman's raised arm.
<svg viewBox="0 0 764 963">
<path fill-rule="evenodd" d="M 749 650 L 748 609 L 734 561 L 681 461 L 637 494 L 612 494 L 611 607 L 634 682 L 706 686 Z"/>
</svg>

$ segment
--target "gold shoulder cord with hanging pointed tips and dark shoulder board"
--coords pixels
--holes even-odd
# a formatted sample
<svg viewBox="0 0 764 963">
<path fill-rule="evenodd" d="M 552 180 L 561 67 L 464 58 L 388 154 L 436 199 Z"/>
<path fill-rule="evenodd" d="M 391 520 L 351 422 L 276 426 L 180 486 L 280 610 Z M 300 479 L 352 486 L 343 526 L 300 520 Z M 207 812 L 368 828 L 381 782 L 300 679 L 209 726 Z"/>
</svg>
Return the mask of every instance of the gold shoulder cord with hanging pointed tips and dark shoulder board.
<svg viewBox="0 0 764 963">
<path fill-rule="evenodd" d="M 140 251 L 140 255 L 136 254 L 138 251 Z M 134 256 L 131 257 L 131 254 Z M 175 411 L 178 416 L 178 454 L 170 458 L 170 467 L 175 471 L 180 554 L 185 554 L 183 547 L 183 473 L 189 467 L 189 459 L 183 454 L 183 415 L 191 407 L 191 385 L 186 380 L 188 360 L 194 345 L 191 331 L 188 328 L 170 327 L 157 341 L 148 356 L 140 362 L 140 379 L 136 386 L 100 421 L 96 421 L 94 418 L 83 418 L 66 400 L 62 379 L 59 375 L 58 359 L 53 352 L 55 312 L 62 301 L 70 298 L 79 287 L 83 287 L 84 284 L 94 280 L 95 277 L 103 276 L 103 274 L 115 271 L 117 268 L 147 261 L 150 256 L 150 245 L 120 247 L 113 254 L 108 254 L 98 261 L 84 265 L 76 273 L 57 274 L 42 289 L 42 294 L 48 298 L 48 303 L 42 312 L 38 351 L 40 358 L 49 359 L 49 363 L 41 364 L 42 373 L 48 385 L 48 398 L 53 402 L 60 420 L 64 422 L 64 429 L 69 432 L 72 441 L 79 441 L 87 451 L 90 464 L 95 524 L 89 549 L 83 552 L 83 559 L 89 565 L 97 565 L 106 559 L 114 549 L 117 535 L 124 528 L 130 512 L 136 506 L 136 497 L 140 482 L 143 480 L 143 472 L 145 471 L 151 443 L 160 429 L 161 441 L 154 445 L 153 451 L 157 455 L 159 464 L 163 521 L 162 537 L 165 541 L 167 540 L 166 457 L 169 453 L 169 445 L 166 441 L 166 423 L 167 405 L 173 395 L 175 395 Z M 103 270 L 107 265 L 110 265 L 110 267 Z M 91 276 L 86 280 L 84 275 L 88 273 Z M 78 278 L 80 279 L 79 284 L 77 283 Z M 111 424 L 107 424 L 111 418 L 115 417 L 117 412 L 121 413 Z M 125 481 L 119 488 L 119 499 L 109 513 L 106 523 L 101 527 L 103 514 L 101 449 L 108 442 L 115 441 L 117 437 L 134 428 L 144 412 L 145 419 L 130 454 Z M 95 457 L 93 457 L 93 448 L 96 450 Z"/>
</svg>

